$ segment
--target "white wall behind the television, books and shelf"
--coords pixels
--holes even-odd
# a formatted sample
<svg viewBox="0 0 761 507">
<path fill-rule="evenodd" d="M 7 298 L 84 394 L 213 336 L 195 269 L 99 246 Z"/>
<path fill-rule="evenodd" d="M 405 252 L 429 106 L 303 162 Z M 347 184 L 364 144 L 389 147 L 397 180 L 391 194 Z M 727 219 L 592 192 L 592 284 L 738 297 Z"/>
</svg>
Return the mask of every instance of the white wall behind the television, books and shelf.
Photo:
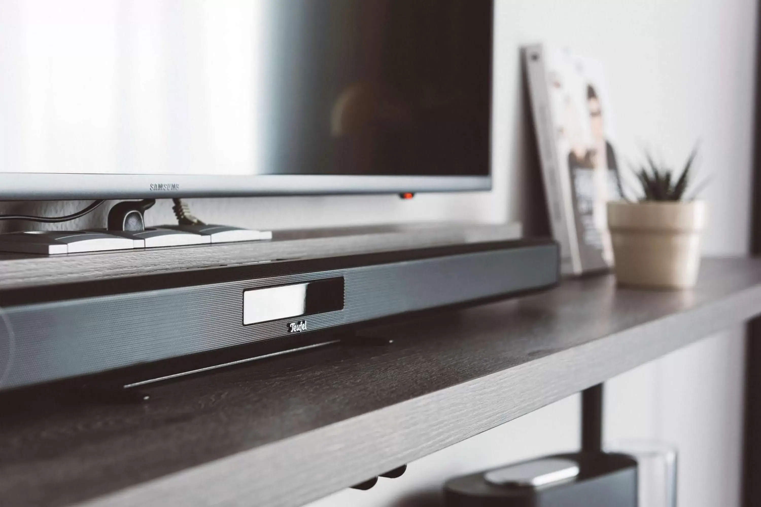
<svg viewBox="0 0 761 507">
<path fill-rule="evenodd" d="M 208 221 L 245 227 L 311 227 L 409 220 L 543 223 L 537 159 L 521 85 L 518 47 L 546 41 L 595 55 L 607 68 L 619 154 L 642 144 L 681 163 L 697 139 L 712 222 L 705 252 L 747 252 L 750 216 L 756 2 L 750 0 L 497 0 L 495 189 L 486 194 L 195 199 Z M 2 203 L 0 211 L 56 214 L 81 203 Z M 78 223 L 102 227 L 106 209 Z M 162 201 L 149 223 L 171 220 Z M 19 227 L 4 224 L 2 227 Z M 743 343 L 737 329 L 613 379 L 610 438 L 655 437 L 680 448 L 680 505 L 739 505 Z M 447 478 L 578 445 L 578 396 L 410 464 L 373 490 L 345 490 L 312 507 L 436 505 Z"/>
</svg>

